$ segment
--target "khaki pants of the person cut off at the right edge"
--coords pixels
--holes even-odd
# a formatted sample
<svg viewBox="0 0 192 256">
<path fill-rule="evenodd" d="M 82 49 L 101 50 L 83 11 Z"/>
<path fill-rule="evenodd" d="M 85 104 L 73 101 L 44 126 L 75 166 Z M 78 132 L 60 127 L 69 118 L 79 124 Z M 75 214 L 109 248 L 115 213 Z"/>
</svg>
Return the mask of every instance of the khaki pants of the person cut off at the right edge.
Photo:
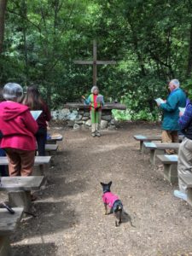
<svg viewBox="0 0 192 256">
<path fill-rule="evenodd" d="M 191 173 L 192 170 L 192 140 L 189 140 L 187 137 L 183 138 L 178 149 L 178 163 L 177 163 L 177 172 L 178 172 L 178 186 L 179 189 L 186 193 L 187 187 L 183 181 L 179 178 L 182 174 Z"/>
</svg>

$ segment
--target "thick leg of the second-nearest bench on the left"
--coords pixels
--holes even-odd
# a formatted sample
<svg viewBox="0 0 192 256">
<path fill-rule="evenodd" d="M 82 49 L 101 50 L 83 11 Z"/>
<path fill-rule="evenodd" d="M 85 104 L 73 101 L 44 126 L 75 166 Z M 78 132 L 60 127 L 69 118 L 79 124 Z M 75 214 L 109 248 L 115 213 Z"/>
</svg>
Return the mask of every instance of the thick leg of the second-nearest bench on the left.
<svg viewBox="0 0 192 256">
<path fill-rule="evenodd" d="M 24 211 L 29 212 L 32 205 L 31 191 L 10 191 L 9 203 L 12 207 L 24 207 Z"/>
</svg>

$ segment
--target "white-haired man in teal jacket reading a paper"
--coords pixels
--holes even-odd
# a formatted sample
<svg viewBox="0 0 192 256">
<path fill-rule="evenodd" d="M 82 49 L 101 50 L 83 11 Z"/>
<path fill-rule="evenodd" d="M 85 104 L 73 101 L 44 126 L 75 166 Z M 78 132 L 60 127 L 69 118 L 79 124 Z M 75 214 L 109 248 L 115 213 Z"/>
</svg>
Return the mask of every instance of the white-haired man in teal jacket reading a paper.
<svg viewBox="0 0 192 256">
<path fill-rule="evenodd" d="M 186 95 L 179 87 L 177 79 L 172 79 L 168 85 L 170 94 L 165 102 L 157 102 L 159 108 L 163 111 L 162 121 L 162 143 L 177 143 L 179 125 L 179 109 L 186 105 Z M 166 149 L 167 154 L 174 154 L 174 150 Z"/>
</svg>

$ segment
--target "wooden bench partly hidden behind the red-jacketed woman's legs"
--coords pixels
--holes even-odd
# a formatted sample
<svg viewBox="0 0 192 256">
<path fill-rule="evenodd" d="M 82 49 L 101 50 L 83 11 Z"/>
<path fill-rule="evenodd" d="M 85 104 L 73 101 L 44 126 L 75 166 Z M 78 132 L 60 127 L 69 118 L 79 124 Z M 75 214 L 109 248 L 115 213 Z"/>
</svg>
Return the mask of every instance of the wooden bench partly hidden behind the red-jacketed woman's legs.
<svg viewBox="0 0 192 256">
<path fill-rule="evenodd" d="M 44 169 L 49 168 L 51 156 L 36 156 L 35 157 L 35 166 L 38 166 L 38 169 L 34 170 L 36 175 L 44 176 Z M 0 157 L 0 166 L 8 166 L 7 156 Z M 33 172 L 33 174 L 34 174 Z"/>
</svg>

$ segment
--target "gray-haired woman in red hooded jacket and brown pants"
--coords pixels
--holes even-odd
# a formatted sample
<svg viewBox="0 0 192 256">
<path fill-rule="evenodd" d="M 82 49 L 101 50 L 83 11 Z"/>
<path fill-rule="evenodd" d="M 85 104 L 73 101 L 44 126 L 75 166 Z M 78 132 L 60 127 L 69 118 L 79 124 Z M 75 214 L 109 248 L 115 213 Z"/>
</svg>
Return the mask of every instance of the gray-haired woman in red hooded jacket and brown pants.
<svg viewBox="0 0 192 256">
<path fill-rule="evenodd" d="M 0 103 L 0 148 L 9 160 L 9 176 L 29 176 L 34 166 L 38 124 L 28 107 L 20 104 L 23 90 L 20 84 L 3 87 L 5 102 Z"/>
</svg>

